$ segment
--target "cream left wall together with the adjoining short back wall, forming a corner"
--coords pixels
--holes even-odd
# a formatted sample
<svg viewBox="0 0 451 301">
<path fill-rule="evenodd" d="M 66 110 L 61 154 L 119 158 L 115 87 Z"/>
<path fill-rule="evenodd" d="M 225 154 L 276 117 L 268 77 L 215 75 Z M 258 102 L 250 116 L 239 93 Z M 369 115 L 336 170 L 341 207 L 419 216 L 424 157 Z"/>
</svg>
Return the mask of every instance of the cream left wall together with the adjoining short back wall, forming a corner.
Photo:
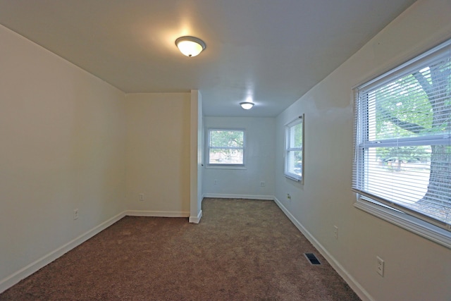
<svg viewBox="0 0 451 301">
<path fill-rule="evenodd" d="M 0 291 L 125 212 L 189 216 L 190 93 L 126 96 L 2 26 L 0 41 Z"/>
</svg>

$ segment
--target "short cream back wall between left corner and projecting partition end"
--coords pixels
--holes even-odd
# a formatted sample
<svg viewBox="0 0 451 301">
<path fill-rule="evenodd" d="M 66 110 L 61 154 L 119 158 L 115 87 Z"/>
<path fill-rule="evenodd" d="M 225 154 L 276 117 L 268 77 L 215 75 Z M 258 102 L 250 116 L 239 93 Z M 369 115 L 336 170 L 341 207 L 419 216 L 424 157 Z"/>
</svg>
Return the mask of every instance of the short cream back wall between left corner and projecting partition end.
<svg viewBox="0 0 451 301">
<path fill-rule="evenodd" d="M 190 93 L 127 94 L 126 103 L 127 208 L 190 216 Z"/>
</svg>

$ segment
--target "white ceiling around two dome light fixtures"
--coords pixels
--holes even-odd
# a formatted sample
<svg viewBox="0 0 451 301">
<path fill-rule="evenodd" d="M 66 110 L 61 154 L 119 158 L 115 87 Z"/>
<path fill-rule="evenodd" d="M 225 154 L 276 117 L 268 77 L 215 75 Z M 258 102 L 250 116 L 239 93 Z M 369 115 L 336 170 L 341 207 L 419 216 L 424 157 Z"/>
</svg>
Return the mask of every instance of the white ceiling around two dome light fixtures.
<svg viewBox="0 0 451 301">
<path fill-rule="evenodd" d="M 200 90 L 207 116 L 277 116 L 413 3 L 0 0 L 0 24 L 123 92 Z M 204 52 L 180 54 L 183 35 Z"/>
</svg>

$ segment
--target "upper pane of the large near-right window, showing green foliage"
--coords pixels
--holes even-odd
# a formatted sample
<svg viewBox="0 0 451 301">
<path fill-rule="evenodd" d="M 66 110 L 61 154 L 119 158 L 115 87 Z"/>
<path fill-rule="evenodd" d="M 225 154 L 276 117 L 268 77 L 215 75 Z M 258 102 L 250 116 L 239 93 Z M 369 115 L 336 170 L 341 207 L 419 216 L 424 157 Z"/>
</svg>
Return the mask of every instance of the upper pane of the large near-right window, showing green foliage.
<svg viewBox="0 0 451 301">
<path fill-rule="evenodd" d="M 446 112 L 450 110 L 449 77 L 448 82 L 434 81 L 431 70 L 443 73 L 449 69 L 450 61 L 440 61 L 369 93 L 369 123 L 375 126 L 374 139 L 445 133 L 449 117 Z M 435 89 L 428 94 L 425 87 Z"/>
</svg>

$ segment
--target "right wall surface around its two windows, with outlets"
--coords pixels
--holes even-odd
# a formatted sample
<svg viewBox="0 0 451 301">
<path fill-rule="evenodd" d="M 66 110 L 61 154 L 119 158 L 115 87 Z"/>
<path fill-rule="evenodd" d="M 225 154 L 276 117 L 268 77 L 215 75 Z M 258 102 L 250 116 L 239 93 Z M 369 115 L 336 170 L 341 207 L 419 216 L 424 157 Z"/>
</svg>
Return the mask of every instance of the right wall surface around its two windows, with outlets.
<svg viewBox="0 0 451 301">
<path fill-rule="evenodd" d="M 351 191 L 352 87 L 450 38 L 450 16 L 449 0 L 417 1 L 276 118 L 280 146 L 283 125 L 305 113 L 304 185 L 283 176 L 278 147 L 276 198 L 342 274 L 361 285 L 364 299 L 451 297 L 451 250 L 353 207 L 356 195 Z M 383 278 L 376 273 L 376 256 L 385 260 Z"/>
</svg>

